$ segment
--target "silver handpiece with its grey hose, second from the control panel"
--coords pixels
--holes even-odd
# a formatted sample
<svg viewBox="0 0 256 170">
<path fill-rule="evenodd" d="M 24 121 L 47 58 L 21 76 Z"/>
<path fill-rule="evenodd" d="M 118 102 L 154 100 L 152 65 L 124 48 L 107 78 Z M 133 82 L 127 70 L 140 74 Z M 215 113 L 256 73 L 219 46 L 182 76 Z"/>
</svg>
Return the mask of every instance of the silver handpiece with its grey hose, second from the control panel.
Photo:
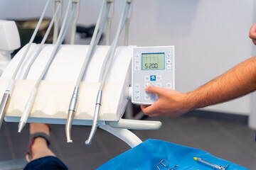
<svg viewBox="0 0 256 170">
<path fill-rule="evenodd" d="M 82 77 L 84 76 L 85 71 L 87 69 L 87 66 L 95 52 L 97 44 L 100 41 L 100 37 L 102 35 L 103 29 L 105 27 L 105 23 L 107 21 L 108 13 L 110 12 L 111 4 L 112 4 L 112 0 L 104 0 L 102 3 L 101 9 L 100 9 L 100 14 L 97 18 L 95 30 L 92 35 L 92 40 L 90 42 L 89 50 L 87 51 L 87 55 L 83 62 L 82 69 L 80 70 L 80 74 L 78 76 L 78 79 L 77 79 L 77 82 L 75 85 L 75 89 L 73 91 L 72 98 L 70 99 L 70 106 L 68 109 L 68 118 L 67 118 L 67 122 L 65 125 L 65 134 L 66 134 L 68 143 L 73 142 L 73 140 L 71 139 L 70 131 L 71 131 L 72 123 L 73 123 L 73 118 L 75 116 L 75 111 L 77 108 L 79 86 L 82 81 Z M 104 11 L 105 11 L 105 13 L 104 13 Z"/>
</svg>

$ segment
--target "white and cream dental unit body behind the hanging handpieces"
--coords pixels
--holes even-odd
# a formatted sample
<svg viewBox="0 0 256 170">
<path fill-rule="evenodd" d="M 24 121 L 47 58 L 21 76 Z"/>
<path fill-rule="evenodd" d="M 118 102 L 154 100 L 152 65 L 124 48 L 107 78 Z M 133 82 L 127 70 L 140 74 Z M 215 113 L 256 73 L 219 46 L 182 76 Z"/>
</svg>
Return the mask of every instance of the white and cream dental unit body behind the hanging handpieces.
<svg viewBox="0 0 256 170">
<path fill-rule="evenodd" d="M 48 57 L 53 51 L 53 45 L 45 45 L 33 63 L 28 77 L 23 79 L 28 63 L 36 53 L 39 45 L 31 45 L 26 59 L 21 65 L 14 85 L 14 91 L 6 111 L 7 122 L 18 122 L 26 106 L 28 96 L 36 84 Z M 73 94 L 76 79 L 87 54 L 88 45 L 61 45 L 58 54 L 50 65 L 44 80 L 38 88 L 36 101 L 33 104 L 28 122 L 65 124 L 68 106 Z M 100 69 L 110 46 L 98 46 L 90 61 L 84 79 L 80 85 L 78 108 L 73 125 L 92 125 L 97 97 Z M 9 79 L 14 74 L 26 46 L 11 60 L 0 79 L 0 96 L 3 96 Z M 107 77 L 102 94 L 102 107 L 99 125 L 105 121 L 118 121 L 127 105 L 127 88 L 131 83 L 132 46 L 117 47 L 110 73 Z"/>
</svg>

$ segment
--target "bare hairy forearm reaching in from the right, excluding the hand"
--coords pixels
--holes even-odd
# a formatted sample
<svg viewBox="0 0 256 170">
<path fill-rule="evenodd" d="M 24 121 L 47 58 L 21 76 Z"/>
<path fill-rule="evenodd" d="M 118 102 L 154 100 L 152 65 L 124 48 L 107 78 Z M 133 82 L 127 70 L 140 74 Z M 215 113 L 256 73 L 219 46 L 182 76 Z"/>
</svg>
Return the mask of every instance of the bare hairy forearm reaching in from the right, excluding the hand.
<svg viewBox="0 0 256 170">
<path fill-rule="evenodd" d="M 186 94 L 191 110 L 229 101 L 256 90 L 256 57 Z"/>
</svg>

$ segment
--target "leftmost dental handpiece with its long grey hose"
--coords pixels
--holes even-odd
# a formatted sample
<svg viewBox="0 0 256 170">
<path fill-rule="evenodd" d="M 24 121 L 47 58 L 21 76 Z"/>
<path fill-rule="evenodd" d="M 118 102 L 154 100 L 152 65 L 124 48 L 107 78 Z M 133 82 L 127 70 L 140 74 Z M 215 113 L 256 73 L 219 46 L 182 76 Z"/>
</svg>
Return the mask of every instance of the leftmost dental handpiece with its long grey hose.
<svg viewBox="0 0 256 170">
<path fill-rule="evenodd" d="M 16 74 L 18 73 L 18 69 L 21 67 L 21 64 L 22 64 L 23 60 L 25 59 L 25 57 L 28 53 L 28 50 L 31 47 L 31 44 L 32 44 L 33 40 L 36 37 L 36 33 L 38 32 L 39 26 L 41 25 L 41 23 L 43 21 L 43 16 L 46 13 L 46 9 L 48 8 L 49 3 L 50 3 L 50 0 L 48 0 L 46 2 L 46 6 L 43 8 L 43 13 L 41 14 L 41 17 L 38 21 L 36 29 L 33 31 L 33 35 L 31 37 L 31 40 L 28 42 L 28 46 L 26 47 L 26 52 L 24 52 L 23 57 L 21 58 L 20 62 L 18 63 L 18 67 L 16 67 L 15 72 L 14 72 L 13 76 L 11 77 L 11 80 L 9 81 L 9 85 L 7 86 L 6 91 L 4 92 L 4 96 L 3 96 L 2 100 L 1 100 L 1 104 L 0 104 L 0 129 L 1 129 L 1 125 L 4 121 L 4 115 L 5 115 L 5 112 L 6 112 L 6 108 L 8 106 L 9 101 L 10 101 L 12 91 L 14 89 L 14 82 L 15 82 Z"/>
</svg>

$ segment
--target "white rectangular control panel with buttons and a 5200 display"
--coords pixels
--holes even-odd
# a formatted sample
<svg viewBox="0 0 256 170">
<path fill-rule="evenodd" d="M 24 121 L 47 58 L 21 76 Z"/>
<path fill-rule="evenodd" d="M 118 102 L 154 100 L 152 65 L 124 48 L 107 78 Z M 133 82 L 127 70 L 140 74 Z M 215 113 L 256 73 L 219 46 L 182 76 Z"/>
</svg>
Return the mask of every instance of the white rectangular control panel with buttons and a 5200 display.
<svg viewBox="0 0 256 170">
<path fill-rule="evenodd" d="M 152 104 L 159 99 L 146 86 L 174 89 L 174 46 L 134 47 L 132 57 L 132 103 Z"/>
</svg>

